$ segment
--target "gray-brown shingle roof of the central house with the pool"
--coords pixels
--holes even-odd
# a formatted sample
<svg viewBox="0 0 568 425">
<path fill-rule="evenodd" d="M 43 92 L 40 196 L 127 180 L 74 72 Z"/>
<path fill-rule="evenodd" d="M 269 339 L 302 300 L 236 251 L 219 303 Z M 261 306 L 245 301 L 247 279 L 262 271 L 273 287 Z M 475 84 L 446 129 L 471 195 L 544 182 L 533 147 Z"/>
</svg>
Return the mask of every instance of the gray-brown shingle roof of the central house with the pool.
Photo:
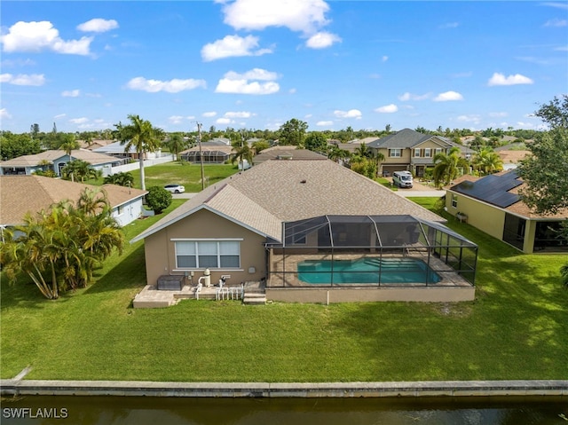
<svg viewBox="0 0 568 425">
<path fill-rule="evenodd" d="M 411 215 L 445 220 L 333 161 L 265 161 L 209 186 L 138 235 L 144 239 L 207 208 L 280 240 L 281 224 L 312 216 Z"/>
</svg>

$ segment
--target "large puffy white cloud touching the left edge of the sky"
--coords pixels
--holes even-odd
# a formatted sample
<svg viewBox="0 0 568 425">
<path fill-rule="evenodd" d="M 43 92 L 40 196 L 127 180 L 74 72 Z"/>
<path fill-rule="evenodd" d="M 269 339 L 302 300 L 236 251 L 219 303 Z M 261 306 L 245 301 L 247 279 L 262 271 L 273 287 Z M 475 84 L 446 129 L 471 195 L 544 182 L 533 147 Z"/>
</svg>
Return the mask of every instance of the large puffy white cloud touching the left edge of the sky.
<svg viewBox="0 0 568 425">
<path fill-rule="evenodd" d="M 3 51 L 33 51 L 51 50 L 57 53 L 88 55 L 92 37 L 82 37 L 80 40 L 65 41 L 59 36 L 57 28 L 47 20 L 41 22 L 16 22 L 8 30 L 8 34 L 0 36 Z"/>
</svg>

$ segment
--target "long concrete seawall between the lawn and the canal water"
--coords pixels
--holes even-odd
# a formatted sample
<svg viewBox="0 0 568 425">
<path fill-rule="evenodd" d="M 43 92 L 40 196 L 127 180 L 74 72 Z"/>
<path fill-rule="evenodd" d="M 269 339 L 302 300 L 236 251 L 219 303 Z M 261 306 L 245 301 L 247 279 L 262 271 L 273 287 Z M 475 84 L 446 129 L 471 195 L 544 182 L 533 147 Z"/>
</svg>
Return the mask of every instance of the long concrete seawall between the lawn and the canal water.
<svg viewBox="0 0 568 425">
<path fill-rule="evenodd" d="M 494 397 L 568 396 L 568 381 L 143 382 L 0 380 L 2 396 Z"/>
</svg>

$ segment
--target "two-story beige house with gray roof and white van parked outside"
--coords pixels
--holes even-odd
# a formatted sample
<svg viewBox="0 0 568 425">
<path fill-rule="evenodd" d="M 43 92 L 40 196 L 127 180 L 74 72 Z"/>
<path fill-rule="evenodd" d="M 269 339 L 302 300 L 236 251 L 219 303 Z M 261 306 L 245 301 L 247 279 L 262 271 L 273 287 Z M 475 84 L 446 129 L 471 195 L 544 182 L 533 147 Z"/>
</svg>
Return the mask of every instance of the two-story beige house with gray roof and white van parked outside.
<svg viewBox="0 0 568 425">
<path fill-rule="evenodd" d="M 379 175 L 391 176 L 395 171 L 410 171 L 415 177 L 424 176 L 426 168 L 434 167 L 434 156 L 437 153 L 449 153 L 453 147 L 460 148 L 461 155 L 469 160 L 473 150 L 452 142 L 449 138 L 423 134 L 418 131 L 404 129 L 378 138 L 367 144 L 375 153 L 383 153 Z"/>
</svg>

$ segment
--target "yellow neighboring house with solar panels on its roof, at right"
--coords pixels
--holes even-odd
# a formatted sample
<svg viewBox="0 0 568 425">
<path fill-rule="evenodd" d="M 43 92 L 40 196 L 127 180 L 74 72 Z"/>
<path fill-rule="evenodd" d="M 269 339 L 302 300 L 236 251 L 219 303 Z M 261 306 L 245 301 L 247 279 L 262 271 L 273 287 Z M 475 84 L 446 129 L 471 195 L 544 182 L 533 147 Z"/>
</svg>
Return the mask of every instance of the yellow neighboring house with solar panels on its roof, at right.
<svg viewBox="0 0 568 425">
<path fill-rule="evenodd" d="M 568 209 L 556 215 L 534 214 L 518 194 L 523 185 L 514 169 L 462 181 L 447 188 L 446 209 L 527 254 L 543 250 L 568 252 L 568 244 L 556 232 L 568 218 Z"/>
</svg>

